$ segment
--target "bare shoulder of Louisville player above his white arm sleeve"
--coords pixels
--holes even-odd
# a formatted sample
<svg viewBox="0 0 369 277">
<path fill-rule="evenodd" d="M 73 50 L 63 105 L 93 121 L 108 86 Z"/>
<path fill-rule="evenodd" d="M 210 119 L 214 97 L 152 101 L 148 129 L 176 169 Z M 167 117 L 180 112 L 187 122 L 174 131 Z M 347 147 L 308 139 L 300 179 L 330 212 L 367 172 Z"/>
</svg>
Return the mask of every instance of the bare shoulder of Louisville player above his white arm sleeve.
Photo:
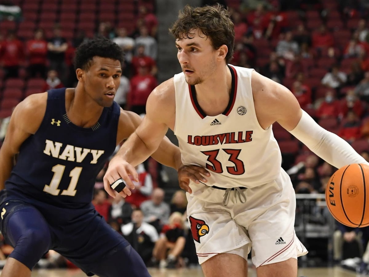
<svg viewBox="0 0 369 277">
<path fill-rule="evenodd" d="M 301 108 L 289 89 L 255 71 L 252 72 L 251 88 L 256 117 L 264 129 L 276 121 L 287 130 L 296 126 Z"/>
</svg>

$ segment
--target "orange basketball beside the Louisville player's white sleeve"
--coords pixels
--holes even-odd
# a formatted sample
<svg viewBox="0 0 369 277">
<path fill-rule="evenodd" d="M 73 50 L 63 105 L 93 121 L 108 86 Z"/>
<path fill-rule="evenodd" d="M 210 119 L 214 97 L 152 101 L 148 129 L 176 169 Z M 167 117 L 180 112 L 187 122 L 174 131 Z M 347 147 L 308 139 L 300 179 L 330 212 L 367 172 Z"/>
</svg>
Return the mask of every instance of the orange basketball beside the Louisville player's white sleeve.
<svg viewBox="0 0 369 277">
<path fill-rule="evenodd" d="M 369 166 L 350 164 L 334 172 L 325 189 L 333 217 L 350 227 L 369 225 Z"/>
</svg>

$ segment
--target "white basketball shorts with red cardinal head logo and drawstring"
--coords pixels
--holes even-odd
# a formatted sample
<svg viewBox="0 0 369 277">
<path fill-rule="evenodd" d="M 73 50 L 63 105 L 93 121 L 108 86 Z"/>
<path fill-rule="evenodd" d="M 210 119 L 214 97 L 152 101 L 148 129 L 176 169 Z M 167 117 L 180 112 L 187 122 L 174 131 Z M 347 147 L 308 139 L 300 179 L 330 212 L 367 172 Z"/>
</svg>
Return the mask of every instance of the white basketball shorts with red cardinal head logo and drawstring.
<svg viewBox="0 0 369 277">
<path fill-rule="evenodd" d="M 294 231 L 296 197 L 284 170 L 275 181 L 243 189 L 245 203 L 236 190 L 225 206 L 224 190 L 194 182 L 190 187 L 187 216 L 200 264 L 220 253 L 247 259 L 251 247 L 256 267 L 307 254 Z"/>
</svg>

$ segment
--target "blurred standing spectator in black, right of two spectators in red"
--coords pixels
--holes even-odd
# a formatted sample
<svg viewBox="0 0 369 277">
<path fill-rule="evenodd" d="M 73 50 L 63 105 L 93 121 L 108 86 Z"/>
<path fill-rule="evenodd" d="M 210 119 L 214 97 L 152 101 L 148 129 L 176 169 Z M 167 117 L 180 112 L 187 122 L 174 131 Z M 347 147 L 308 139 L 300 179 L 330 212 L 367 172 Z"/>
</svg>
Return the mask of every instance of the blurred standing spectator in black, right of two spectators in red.
<svg viewBox="0 0 369 277">
<path fill-rule="evenodd" d="M 49 39 L 47 44 L 50 68 L 56 70 L 62 82 L 65 82 L 67 72 L 65 52 L 68 49 L 68 43 L 62 37 L 62 30 L 59 26 L 55 26 L 53 32 L 53 37 Z"/>
</svg>

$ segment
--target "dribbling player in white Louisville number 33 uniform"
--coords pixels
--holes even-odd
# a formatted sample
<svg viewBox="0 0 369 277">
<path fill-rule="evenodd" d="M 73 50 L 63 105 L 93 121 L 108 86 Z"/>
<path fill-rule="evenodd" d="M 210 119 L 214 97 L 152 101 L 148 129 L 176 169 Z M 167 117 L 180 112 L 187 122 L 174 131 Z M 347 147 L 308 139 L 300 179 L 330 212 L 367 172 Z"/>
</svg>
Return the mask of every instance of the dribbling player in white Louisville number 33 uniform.
<svg viewBox="0 0 369 277">
<path fill-rule="evenodd" d="M 247 255 L 258 277 L 296 277 L 307 253 L 294 232 L 296 201 L 273 137 L 278 122 L 328 163 L 365 163 L 348 143 L 314 122 L 284 86 L 252 69 L 228 65 L 234 26 L 222 7 L 186 6 L 170 29 L 182 73 L 149 96 L 146 116 L 110 161 L 104 186 L 132 185 L 134 166 L 172 129 L 183 166 L 187 214 L 206 277 L 247 276 Z M 197 165 L 211 175 L 193 171 Z M 194 175 L 192 175 L 194 174 Z M 191 176 L 192 175 L 192 176 Z M 198 181 L 189 181 L 188 177 Z M 121 194 L 124 196 L 128 187 Z"/>
</svg>

